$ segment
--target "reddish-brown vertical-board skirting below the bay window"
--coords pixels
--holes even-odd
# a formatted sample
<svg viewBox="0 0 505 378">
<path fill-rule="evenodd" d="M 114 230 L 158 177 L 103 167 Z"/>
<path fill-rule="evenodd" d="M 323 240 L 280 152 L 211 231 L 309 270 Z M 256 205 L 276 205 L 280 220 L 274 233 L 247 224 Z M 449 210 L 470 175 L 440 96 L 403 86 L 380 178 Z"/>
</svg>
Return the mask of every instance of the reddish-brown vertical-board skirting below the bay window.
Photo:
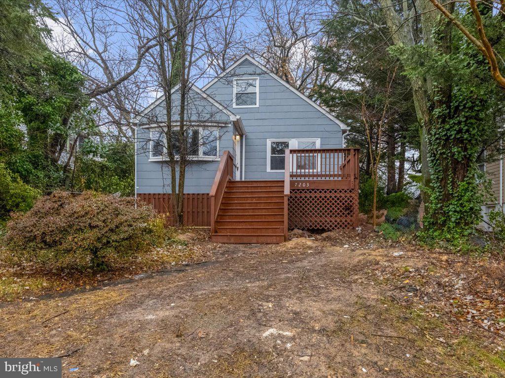
<svg viewBox="0 0 505 378">
<path fill-rule="evenodd" d="M 160 214 L 172 212 L 171 195 L 168 193 L 140 193 L 137 198 L 153 205 Z M 208 193 L 184 194 L 183 222 L 185 226 L 211 226 L 211 199 Z M 169 225 L 174 225 L 172 216 L 167 218 Z"/>
</svg>

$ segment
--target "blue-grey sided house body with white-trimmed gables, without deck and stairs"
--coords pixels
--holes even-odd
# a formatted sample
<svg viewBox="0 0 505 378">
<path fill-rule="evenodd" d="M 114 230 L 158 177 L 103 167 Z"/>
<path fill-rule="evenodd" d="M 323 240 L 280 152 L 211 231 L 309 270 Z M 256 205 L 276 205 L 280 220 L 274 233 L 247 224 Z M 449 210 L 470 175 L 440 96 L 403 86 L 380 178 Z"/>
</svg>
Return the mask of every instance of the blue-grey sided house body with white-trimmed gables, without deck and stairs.
<svg viewBox="0 0 505 378">
<path fill-rule="evenodd" d="M 177 99 L 178 88 L 174 88 L 173 124 L 178 120 Z M 201 206 L 208 207 L 206 196 L 217 180 L 225 151 L 233 161 L 235 181 L 279 182 L 285 177 L 285 150 L 341 149 L 347 132 L 344 123 L 247 54 L 203 88 L 193 86 L 187 102 L 185 118 L 192 125 L 189 144 L 195 151 L 186 169 L 184 192 L 193 195 L 188 207 L 196 206 L 192 203 L 196 195 L 203 198 Z M 161 195 L 170 195 L 160 132 L 167 122 L 164 109 L 162 96 L 136 119 L 136 195 L 155 206 L 163 201 Z M 318 171 L 324 169 L 322 155 L 312 159 L 318 161 Z M 299 159 L 297 164 L 302 165 Z M 204 211 L 201 222 L 188 215 L 188 223 L 207 224 L 211 210 Z"/>
</svg>

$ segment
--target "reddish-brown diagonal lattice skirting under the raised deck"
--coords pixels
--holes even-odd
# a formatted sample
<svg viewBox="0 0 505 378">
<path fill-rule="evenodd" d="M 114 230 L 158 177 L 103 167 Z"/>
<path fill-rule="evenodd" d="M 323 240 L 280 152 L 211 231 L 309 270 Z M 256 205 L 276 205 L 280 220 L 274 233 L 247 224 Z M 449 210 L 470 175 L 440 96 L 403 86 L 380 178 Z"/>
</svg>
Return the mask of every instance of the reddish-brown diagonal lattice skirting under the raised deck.
<svg viewBox="0 0 505 378">
<path fill-rule="evenodd" d="M 358 226 L 358 189 L 291 190 L 290 229 L 334 230 Z"/>
</svg>

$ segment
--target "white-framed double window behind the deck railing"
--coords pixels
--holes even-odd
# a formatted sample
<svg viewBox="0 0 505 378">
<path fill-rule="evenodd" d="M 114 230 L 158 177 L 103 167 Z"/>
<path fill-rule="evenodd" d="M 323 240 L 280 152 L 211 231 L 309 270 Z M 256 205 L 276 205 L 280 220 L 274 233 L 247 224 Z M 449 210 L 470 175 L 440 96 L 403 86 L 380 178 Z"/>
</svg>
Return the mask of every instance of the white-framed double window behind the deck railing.
<svg viewBox="0 0 505 378">
<path fill-rule="evenodd" d="M 320 139 L 267 139 L 267 172 L 284 171 L 285 150 L 314 149 L 320 147 Z M 301 170 L 318 170 L 318 157 L 297 156 L 294 162 Z"/>
</svg>

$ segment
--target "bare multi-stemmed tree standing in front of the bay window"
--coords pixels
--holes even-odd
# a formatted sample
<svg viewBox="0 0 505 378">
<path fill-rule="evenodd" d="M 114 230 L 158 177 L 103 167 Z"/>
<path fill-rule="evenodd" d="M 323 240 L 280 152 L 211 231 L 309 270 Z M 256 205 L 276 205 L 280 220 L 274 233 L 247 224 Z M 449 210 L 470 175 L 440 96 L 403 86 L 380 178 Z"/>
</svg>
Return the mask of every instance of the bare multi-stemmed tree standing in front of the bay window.
<svg viewBox="0 0 505 378">
<path fill-rule="evenodd" d="M 233 19 L 223 17 L 230 14 L 229 4 L 215 1 L 141 0 L 140 3 L 137 29 L 139 33 L 152 33 L 157 43 L 148 53 L 147 64 L 153 67 L 152 75 L 160 88 L 163 104 L 162 116 L 153 114 L 147 123 L 159 125 L 164 133 L 164 163 L 169 170 L 172 212 L 175 222 L 180 224 L 186 169 L 195 155 L 194 148 L 201 143 L 213 144 L 219 138 L 219 133 L 195 137 L 194 131 L 215 120 L 216 114 L 198 108 L 193 83 L 208 71 L 211 63 L 207 47 L 210 38 L 215 36 L 209 36 L 209 30 L 215 30 L 219 22 L 230 26 Z M 173 30 L 174 35 L 167 34 L 166 30 Z M 225 56 L 227 51 L 222 53 Z"/>
</svg>

